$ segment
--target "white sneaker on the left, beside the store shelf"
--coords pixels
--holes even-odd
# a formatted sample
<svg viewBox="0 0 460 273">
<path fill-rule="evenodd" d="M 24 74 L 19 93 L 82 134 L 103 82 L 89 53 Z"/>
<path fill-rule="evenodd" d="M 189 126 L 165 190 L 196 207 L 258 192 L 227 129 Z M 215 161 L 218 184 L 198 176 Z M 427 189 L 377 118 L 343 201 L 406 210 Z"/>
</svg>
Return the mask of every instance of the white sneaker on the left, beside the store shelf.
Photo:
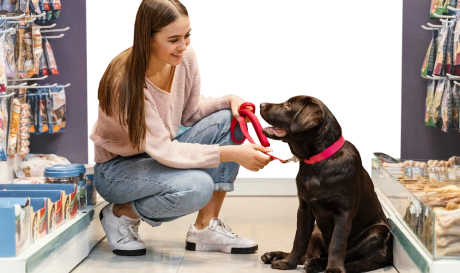
<svg viewBox="0 0 460 273">
<path fill-rule="evenodd" d="M 115 216 L 112 203 L 101 210 L 99 218 L 113 253 L 121 256 L 145 255 L 145 244 L 138 234 L 139 219 Z"/>
</svg>

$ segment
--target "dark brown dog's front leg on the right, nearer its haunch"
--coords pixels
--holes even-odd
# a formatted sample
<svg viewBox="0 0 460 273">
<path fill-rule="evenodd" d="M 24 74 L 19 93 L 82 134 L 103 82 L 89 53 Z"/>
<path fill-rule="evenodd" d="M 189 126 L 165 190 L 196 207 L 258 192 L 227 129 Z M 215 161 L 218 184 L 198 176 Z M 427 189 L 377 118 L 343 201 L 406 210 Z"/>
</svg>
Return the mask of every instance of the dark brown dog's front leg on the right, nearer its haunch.
<svg viewBox="0 0 460 273">
<path fill-rule="evenodd" d="M 334 216 L 334 232 L 328 251 L 328 263 L 324 273 L 345 273 L 345 252 L 348 235 L 351 231 L 353 217 L 349 210 L 341 211 Z"/>
</svg>

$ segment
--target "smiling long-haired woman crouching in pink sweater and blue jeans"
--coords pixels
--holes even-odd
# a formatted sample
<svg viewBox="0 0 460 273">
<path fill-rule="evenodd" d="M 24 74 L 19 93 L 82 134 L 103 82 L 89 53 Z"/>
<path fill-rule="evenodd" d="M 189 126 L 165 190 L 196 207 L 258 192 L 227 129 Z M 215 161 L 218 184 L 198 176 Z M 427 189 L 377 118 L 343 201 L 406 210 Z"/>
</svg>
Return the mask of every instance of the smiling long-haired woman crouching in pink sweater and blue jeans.
<svg viewBox="0 0 460 273">
<path fill-rule="evenodd" d="M 263 169 L 270 157 L 261 152 L 270 150 L 233 142 L 230 124 L 243 98 L 199 94 L 190 30 L 178 0 L 143 0 L 133 45 L 112 59 L 99 83 L 90 136 L 94 183 L 111 203 L 100 219 L 117 255 L 145 255 L 140 219 L 155 227 L 196 211 L 186 249 L 249 254 L 258 248 L 218 216 L 239 166 Z M 191 128 L 176 136 L 181 124 Z M 235 137 L 243 138 L 238 126 Z"/>
</svg>

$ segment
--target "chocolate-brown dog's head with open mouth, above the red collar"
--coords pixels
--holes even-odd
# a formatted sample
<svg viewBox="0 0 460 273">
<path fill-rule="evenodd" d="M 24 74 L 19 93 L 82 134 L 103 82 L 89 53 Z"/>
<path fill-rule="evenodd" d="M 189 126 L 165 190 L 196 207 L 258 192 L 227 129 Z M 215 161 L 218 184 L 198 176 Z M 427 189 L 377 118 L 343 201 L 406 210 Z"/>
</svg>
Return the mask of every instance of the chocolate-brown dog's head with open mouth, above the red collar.
<svg viewBox="0 0 460 273">
<path fill-rule="evenodd" d="M 341 134 L 337 119 L 314 96 L 297 95 L 280 103 L 261 103 L 260 117 L 268 125 L 262 133 L 269 139 L 295 146 L 296 152 L 290 145 L 291 152 L 298 157 L 300 154 L 308 158 L 317 148 L 332 144 L 335 141 L 332 139 Z"/>
</svg>

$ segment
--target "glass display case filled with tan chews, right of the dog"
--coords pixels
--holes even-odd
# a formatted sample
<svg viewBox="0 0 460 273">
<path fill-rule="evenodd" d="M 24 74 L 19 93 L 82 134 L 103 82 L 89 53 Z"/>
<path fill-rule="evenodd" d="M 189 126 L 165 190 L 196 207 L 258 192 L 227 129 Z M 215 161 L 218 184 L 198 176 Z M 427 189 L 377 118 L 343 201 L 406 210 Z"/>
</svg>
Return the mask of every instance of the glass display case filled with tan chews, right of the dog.
<svg viewBox="0 0 460 273">
<path fill-rule="evenodd" d="M 433 260 L 460 259 L 457 180 L 438 181 L 429 179 L 426 174 L 418 178 L 394 175 L 394 169 L 388 168 L 383 161 L 377 156 L 372 159 L 372 181 L 386 197 L 395 216 Z"/>
</svg>

